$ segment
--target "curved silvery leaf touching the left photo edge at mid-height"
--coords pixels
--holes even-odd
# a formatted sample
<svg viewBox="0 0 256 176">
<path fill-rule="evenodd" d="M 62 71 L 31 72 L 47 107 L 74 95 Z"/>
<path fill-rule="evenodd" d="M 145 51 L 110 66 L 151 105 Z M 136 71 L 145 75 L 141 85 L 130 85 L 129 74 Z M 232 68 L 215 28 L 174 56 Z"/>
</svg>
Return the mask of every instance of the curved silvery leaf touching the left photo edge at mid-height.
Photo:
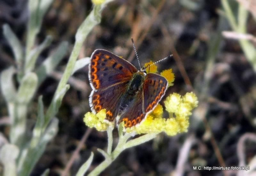
<svg viewBox="0 0 256 176">
<path fill-rule="evenodd" d="M 16 98 L 16 88 L 13 83 L 14 67 L 9 67 L 1 73 L 1 89 L 6 102 L 14 102 Z"/>
</svg>

